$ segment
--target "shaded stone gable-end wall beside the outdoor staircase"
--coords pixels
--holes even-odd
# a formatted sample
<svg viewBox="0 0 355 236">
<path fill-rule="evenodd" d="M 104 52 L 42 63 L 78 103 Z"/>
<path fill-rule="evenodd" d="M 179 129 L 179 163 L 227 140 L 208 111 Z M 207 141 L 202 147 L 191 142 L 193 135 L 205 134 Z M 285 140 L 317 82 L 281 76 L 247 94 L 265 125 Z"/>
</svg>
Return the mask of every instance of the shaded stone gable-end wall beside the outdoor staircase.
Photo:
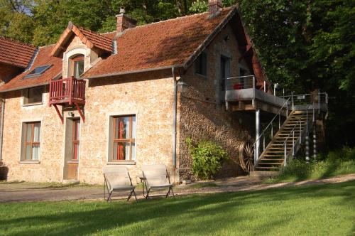
<svg viewBox="0 0 355 236">
<path fill-rule="evenodd" d="M 229 36 L 229 40 L 224 38 Z M 182 179 L 193 178 L 190 168 L 192 159 L 188 153 L 186 139 L 192 141 L 212 140 L 223 146 L 231 160 L 224 164 L 219 176 L 236 176 L 243 173 L 239 167 L 239 144 L 250 140 L 252 124 L 240 116 L 226 111 L 220 102 L 220 58 L 225 56 L 231 61 L 231 77 L 239 76 L 239 50 L 236 38 L 229 26 L 205 50 L 207 53 L 207 76 L 195 74 L 195 68 L 182 75 L 187 83 L 186 91 L 180 93 L 179 102 L 179 172 Z M 245 125 L 248 123 L 247 125 Z"/>
</svg>

